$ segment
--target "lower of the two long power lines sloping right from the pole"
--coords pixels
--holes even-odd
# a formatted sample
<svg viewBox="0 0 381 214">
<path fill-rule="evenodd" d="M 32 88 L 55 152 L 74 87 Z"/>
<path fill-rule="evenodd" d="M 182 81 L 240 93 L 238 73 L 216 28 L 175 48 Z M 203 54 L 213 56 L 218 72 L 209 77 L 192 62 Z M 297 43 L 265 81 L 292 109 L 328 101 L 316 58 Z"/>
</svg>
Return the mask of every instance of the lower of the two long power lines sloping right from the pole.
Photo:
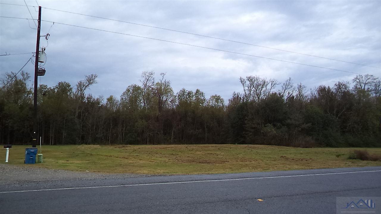
<svg viewBox="0 0 381 214">
<path fill-rule="evenodd" d="M 16 18 L 16 17 L 8 17 L 8 16 L 0 16 L 0 17 L 1 18 L 12 18 L 12 19 L 26 19 L 26 18 Z M 52 21 L 46 21 L 46 20 L 42 20 L 42 21 L 53 23 Z M 65 23 L 61 23 L 61 22 L 54 22 L 54 23 L 62 24 L 62 25 L 66 25 L 66 26 L 72 26 L 72 27 L 80 27 L 80 28 L 85 28 L 85 29 L 91 29 L 91 30 L 99 30 L 99 31 L 109 32 L 109 33 L 114 33 L 114 34 L 122 34 L 122 35 L 127 35 L 127 36 L 132 36 L 132 37 L 147 38 L 147 39 L 157 40 L 157 41 L 162 41 L 162 42 L 170 42 L 170 43 L 175 43 L 175 44 L 180 44 L 180 45 L 193 46 L 193 47 L 197 47 L 197 48 L 205 48 L 205 49 L 209 49 L 209 50 L 223 51 L 226 53 L 234 53 L 234 54 L 240 54 L 240 55 L 244 55 L 244 56 L 258 57 L 258 58 L 262 58 L 262 59 L 271 59 L 271 60 L 280 61 L 280 62 L 288 62 L 288 63 L 298 64 L 298 65 L 306 65 L 306 66 L 310 66 L 310 67 L 317 67 L 317 68 L 328 69 L 328 70 L 336 70 L 336 71 L 347 72 L 347 73 L 355 73 L 355 72 L 350 72 L 350 71 L 346 71 L 346 70 L 331 69 L 331 68 L 317 66 L 317 65 L 309 65 L 309 64 L 299 63 L 299 62 L 291 62 L 291 61 L 286 61 L 286 60 L 282 60 L 282 59 L 274 59 L 274 58 L 269 58 L 269 57 L 256 56 L 256 55 L 239 53 L 239 52 L 234 52 L 234 51 L 221 50 L 221 49 L 217 49 L 217 48 L 208 48 L 208 47 L 204 47 L 204 46 L 191 45 L 191 44 L 186 44 L 186 43 L 181 43 L 181 42 L 173 42 L 173 41 L 162 40 L 162 39 L 158 39 L 158 38 L 150 38 L 150 37 L 143 37 L 143 36 L 138 36 L 138 35 L 133 35 L 133 34 L 125 34 L 125 33 L 121 33 L 121 32 L 96 29 L 96 28 L 92 28 L 92 27 L 83 27 L 83 26 L 77 26 L 77 25 L 72 25 L 72 24 L 65 24 Z M 361 75 L 362 73 L 355 73 L 355 74 Z"/>
</svg>

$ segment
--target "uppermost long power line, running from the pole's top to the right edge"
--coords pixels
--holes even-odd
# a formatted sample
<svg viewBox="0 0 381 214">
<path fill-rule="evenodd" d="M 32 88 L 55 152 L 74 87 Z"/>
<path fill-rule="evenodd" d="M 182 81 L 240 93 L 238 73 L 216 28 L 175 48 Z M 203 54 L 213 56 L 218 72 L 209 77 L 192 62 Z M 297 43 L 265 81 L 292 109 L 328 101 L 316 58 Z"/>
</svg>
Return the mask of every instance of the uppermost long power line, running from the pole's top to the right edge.
<svg viewBox="0 0 381 214">
<path fill-rule="evenodd" d="M 16 4 L 7 4 L 7 3 L 0 3 L 0 4 L 16 5 Z M 18 6 L 24 6 L 24 5 L 18 5 Z M 31 7 L 35 7 L 35 6 L 31 6 Z M 317 56 L 317 55 L 312 55 L 312 54 L 299 53 L 299 52 L 288 51 L 288 50 L 283 50 L 283 49 L 279 49 L 279 48 L 271 48 L 271 47 L 267 47 L 267 46 L 255 45 L 255 44 L 251 44 L 251 43 L 239 42 L 239 41 L 235 41 L 235 40 L 229 40 L 229 39 L 218 38 L 218 37 L 211 37 L 211 36 L 202 35 L 202 34 L 195 34 L 195 33 L 181 31 L 181 30 L 173 30 L 173 29 L 168 29 L 168 28 L 163 28 L 163 27 L 149 26 L 149 25 L 145 25 L 145 24 L 138 24 L 138 23 L 134 23 L 134 22 L 127 22 L 127 21 L 122 21 L 122 20 L 117 20 L 117 19 L 109 19 L 109 18 L 104 18 L 104 17 L 100 17 L 100 16 L 93 16 L 93 15 L 88 15 L 88 14 L 83 14 L 83 13 L 75 13 L 75 12 L 70 12 L 70 11 L 65 11 L 65 10 L 58 10 L 58 9 L 53 9 L 53 8 L 46 8 L 46 7 L 42 7 L 42 8 L 48 9 L 48 10 L 60 11 L 60 12 L 64 12 L 64 13 L 72 13 L 72 14 L 77 14 L 77 15 L 82 15 L 82 16 L 89 16 L 89 17 L 93 17 L 93 18 L 106 19 L 106 20 L 110 20 L 110 21 L 117 21 L 117 22 L 123 22 L 123 23 L 128 23 L 128 24 L 134 24 L 134 25 L 139 25 L 139 26 L 144 26 L 144 27 L 152 27 L 152 28 L 156 28 L 156 29 L 170 30 L 170 31 L 173 31 L 173 32 L 179 32 L 179 33 L 183 33 L 183 34 L 190 34 L 190 35 L 196 35 L 196 36 L 200 36 L 200 37 L 213 38 L 213 39 L 218 39 L 218 40 L 224 40 L 224 41 L 227 41 L 227 42 L 235 42 L 235 43 L 240 43 L 240 44 L 244 44 L 244 45 L 257 46 L 257 47 L 268 48 L 268 49 L 277 50 L 277 51 L 284 51 L 284 52 L 288 52 L 288 53 L 301 54 L 301 55 L 305 55 L 305 56 L 318 57 L 318 58 L 322 58 L 322 59 L 329 59 L 329 60 L 334 60 L 334 61 L 338 61 L 338 62 L 346 62 L 346 63 L 350 63 L 350 64 L 355 64 L 355 65 L 362 65 L 362 66 L 367 66 L 367 67 L 380 68 L 380 67 L 376 67 L 376 66 L 364 65 L 364 64 L 355 63 L 355 62 L 348 62 L 348 61 L 343 61 L 343 60 L 333 59 L 333 58 L 328 58 L 328 57 L 323 57 L 323 56 Z"/>
</svg>

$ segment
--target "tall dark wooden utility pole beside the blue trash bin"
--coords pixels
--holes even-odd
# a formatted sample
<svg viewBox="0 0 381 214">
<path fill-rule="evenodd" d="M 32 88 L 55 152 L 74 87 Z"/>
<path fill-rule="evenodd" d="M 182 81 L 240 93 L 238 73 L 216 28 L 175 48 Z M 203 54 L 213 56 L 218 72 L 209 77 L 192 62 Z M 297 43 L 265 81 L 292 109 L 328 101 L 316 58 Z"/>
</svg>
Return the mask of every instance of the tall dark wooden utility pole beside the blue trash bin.
<svg viewBox="0 0 381 214">
<path fill-rule="evenodd" d="M 37 43 L 36 43 L 36 59 L 34 61 L 34 97 L 33 97 L 33 138 L 32 147 L 37 147 L 37 72 L 38 72 L 38 55 L 40 51 L 40 30 L 41 30 L 41 6 L 38 6 L 37 20 Z"/>
</svg>

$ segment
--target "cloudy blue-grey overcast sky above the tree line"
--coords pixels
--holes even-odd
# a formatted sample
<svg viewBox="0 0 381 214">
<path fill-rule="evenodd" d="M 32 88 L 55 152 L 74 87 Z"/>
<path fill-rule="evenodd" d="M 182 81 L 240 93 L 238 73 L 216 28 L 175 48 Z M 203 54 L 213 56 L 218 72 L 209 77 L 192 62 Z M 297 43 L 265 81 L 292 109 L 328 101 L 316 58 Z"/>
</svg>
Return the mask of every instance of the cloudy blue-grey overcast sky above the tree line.
<svg viewBox="0 0 381 214">
<path fill-rule="evenodd" d="M 174 29 L 235 40 L 282 50 L 312 54 L 381 67 L 380 1 L 42 1 L 42 7 L 101 16 L 149 26 Z M 37 6 L 36 1 L 26 1 Z M 6 1 L 25 5 L 24 1 Z M 38 12 L 29 7 L 36 19 Z M 26 6 L 0 5 L 1 16 L 31 18 Z M 311 64 L 381 77 L 381 69 L 338 62 L 258 46 L 227 42 L 123 22 L 109 21 L 42 8 L 42 20 L 170 40 L 190 45 Z M 51 27 L 42 21 L 41 34 Z M 35 51 L 34 23 L 0 18 L 0 54 Z M 46 75 L 39 83 L 54 86 L 67 81 L 75 86 L 91 73 L 98 84 L 86 91 L 95 96 L 120 94 L 128 85 L 139 84 L 141 72 L 153 70 L 156 80 L 166 79 L 176 93 L 199 88 L 209 97 L 226 101 L 242 91 L 239 78 L 259 75 L 307 88 L 351 81 L 356 74 L 306 65 L 243 56 L 175 43 L 54 24 L 46 47 Z M 0 57 L 0 75 L 17 72 L 31 54 Z M 34 73 L 27 64 L 26 72 Z M 32 75 L 33 76 L 33 75 Z M 32 83 L 32 82 L 31 82 Z"/>
</svg>

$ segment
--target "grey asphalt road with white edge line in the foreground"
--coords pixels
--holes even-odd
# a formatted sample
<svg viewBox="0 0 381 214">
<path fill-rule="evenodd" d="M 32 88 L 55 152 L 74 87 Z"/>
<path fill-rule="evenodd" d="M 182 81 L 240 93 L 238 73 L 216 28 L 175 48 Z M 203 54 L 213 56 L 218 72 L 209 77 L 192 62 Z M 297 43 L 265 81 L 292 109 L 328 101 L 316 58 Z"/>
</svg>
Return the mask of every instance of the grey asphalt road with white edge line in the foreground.
<svg viewBox="0 0 381 214">
<path fill-rule="evenodd" d="M 381 167 L 44 182 L 0 186 L 0 213 L 335 213 L 381 196 Z"/>
</svg>

